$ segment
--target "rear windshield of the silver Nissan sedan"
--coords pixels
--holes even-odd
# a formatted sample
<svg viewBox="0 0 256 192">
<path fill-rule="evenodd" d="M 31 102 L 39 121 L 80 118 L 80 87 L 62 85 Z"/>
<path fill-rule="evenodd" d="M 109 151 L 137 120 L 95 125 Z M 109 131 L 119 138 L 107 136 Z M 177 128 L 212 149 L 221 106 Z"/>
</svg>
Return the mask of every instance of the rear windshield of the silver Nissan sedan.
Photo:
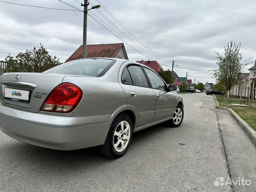
<svg viewBox="0 0 256 192">
<path fill-rule="evenodd" d="M 108 71 L 114 62 L 116 61 L 111 59 L 79 59 L 58 65 L 44 73 L 101 77 Z"/>
</svg>

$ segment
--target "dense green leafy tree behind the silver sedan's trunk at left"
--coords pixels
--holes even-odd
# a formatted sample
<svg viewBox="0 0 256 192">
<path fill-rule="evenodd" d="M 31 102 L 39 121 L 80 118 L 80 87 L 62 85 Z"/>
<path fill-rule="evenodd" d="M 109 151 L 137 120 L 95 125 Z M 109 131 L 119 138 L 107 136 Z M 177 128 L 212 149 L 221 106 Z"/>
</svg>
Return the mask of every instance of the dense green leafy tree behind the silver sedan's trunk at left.
<svg viewBox="0 0 256 192">
<path fill-rule="evenodd" d="M 52 57 L 41 44 L 24 53 L 20 52 L 15 57 L 9 54 L 5 61 L 7 67 L 4 72 L 43 72 L 61 64 L 59 59 Z"/>
</svg>

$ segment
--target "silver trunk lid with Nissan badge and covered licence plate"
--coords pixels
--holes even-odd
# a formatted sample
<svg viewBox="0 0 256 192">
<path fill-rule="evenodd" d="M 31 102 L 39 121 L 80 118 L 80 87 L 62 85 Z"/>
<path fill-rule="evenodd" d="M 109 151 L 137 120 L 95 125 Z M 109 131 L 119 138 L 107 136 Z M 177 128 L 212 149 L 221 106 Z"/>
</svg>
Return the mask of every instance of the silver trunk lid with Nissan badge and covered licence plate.
<svg viewBox="0 0 256 192">
<path fill-rule="evenodd" d="M 38 113 L 46 97 L 64 74 L 6 73 L 0 77 L 0 100 L 3 106 Z M 19 77 L 19 78 L 18 78 Z"/>
</svg>

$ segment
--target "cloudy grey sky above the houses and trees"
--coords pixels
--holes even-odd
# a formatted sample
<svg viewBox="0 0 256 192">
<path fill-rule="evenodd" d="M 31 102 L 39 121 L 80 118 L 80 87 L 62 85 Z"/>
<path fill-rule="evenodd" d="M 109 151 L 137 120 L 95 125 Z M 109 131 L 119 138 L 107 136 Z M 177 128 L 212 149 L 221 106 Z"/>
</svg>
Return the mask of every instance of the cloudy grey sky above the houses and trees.
<svg viewBox="0 0 256 192">
<path fill-rule="evenodd" d="M 6 1 L 76 10 L 59 0 Z M 82 0 L 62 1 L 83 9 Z M 188 72 L 193 82 L 215 82 L 209 72 L 216 66 L 215 52 L 222 54 L 230 41 L 241 43 L 244 59 L 256 59 L 255 0 L 90 0 L 90 6 L 98 3 L 104 7 L 88 13 L 120 39 L 88 16 L 87 44 L 124 42 L 131 60 L 157 60 L 164 69 L 174 59 L 174 71 L 179 76 Z M 0 60 L 42 43 L 64 62 L 82 44 L 83 13 L 78 10 L 5 2 L 0 7 Z"/>
</svg>

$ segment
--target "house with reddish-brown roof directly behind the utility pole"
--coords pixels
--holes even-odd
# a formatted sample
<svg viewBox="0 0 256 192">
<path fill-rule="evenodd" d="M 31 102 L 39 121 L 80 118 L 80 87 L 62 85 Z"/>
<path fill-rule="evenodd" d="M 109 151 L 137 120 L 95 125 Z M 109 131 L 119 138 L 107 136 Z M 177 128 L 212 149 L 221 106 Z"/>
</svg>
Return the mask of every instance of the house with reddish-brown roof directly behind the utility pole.
<svg viewBox="0 0 256 192">
<path fill-rule="evenodd" d="M 86 57 L 87 58 L 107 57 L 107 58 L 120 58 L 120 59 L 128 60 L 128 56 L 123 43 L 87 45 Z M 82 58 L 83 58 L 83 46 L 81 45 L 66 60 L 66 62 L 82 59 Z"/>
</svg>

